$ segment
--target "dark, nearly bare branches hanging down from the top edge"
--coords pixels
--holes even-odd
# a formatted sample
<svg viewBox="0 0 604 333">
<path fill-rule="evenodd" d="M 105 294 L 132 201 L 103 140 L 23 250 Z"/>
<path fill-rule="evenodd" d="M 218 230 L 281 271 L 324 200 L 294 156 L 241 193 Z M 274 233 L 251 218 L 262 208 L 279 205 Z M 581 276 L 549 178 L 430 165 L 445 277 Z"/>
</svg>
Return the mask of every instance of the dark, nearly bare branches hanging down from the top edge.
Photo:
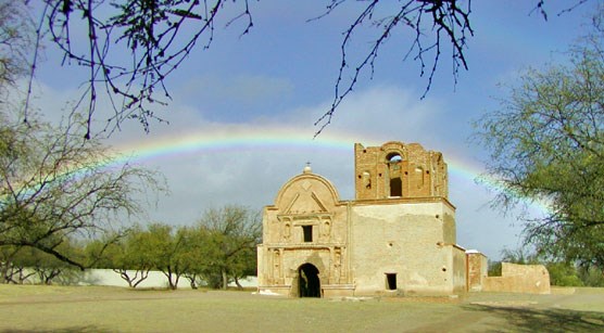
<svg viewBox="0 0 604 333">
<path fill-rule="evenodd" d="M 533 1 L 534 9 L 546 17 L 545 0 Z M 576 1 L 568 4 L 570 9 L 587 0 Z M 362 74 L 373 74 L 379 50 L 392 36 L 404 39 L 411 33 L 407 51 L 402 55 L 418 62 L 420 76 L 427 76 L 426 92 L 448 47 L 451 53 L 444 54 L 451 56 L 455 81 L 460 68 L 468 68 L 465 54 L 467 40 L 474 35 L 471 1 L 405 0 L 392 9 L 389 1 L 373 0 L 358 5 L 356 1 L 331 0 L 319 17 L 351 3 L 356 14 L 343 31 L 334 100 L 315 124 L 319 128 L 317 133 L 330 123 Z M 110 129 L 126 118 L 136 118 L 148 129 L 150 119 L 162 119 L 151 106 L 171 99 L 166 78 L 197 44 L 210 47 L 221 20 L 226 26 L 243 21 L 241 35 L 250 33 L 254 25 L 249 0 L 45 0 L 40 11 L 34 44 L 50 36 L 64 54 L 63 63 L 83 66 L 89 73 L 83 97 L 88 101 L 87 138 L 100 90 L 108 92 L 113 104 L 114 114 L 108 119 Z M 370 30 L 374 39 L 363 56 L 351 59 L 349 50 L 361 29 Z M 88 38 L 76 38 L 76 30 L 86 31 Z M 129 56 L 117 55 L 124 50 Z M 37 48 L 34 51 L 33 68 Z"/>
</svg>

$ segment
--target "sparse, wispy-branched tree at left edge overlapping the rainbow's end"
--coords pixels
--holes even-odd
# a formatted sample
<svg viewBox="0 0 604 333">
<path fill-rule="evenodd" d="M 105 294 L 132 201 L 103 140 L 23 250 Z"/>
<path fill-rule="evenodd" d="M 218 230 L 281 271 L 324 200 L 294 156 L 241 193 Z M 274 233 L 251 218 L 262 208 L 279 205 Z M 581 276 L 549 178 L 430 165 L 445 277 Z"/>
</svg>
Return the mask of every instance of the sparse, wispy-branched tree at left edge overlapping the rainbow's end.
<svg viewBox="0 0 604 333">
<path fill-rule="evenodd" d="M 63 243 L 119 230 L 119 219 L 142 213 L 141 194 L 163 190 L 155 172 L 83 140 L 77 114 L 59 126 L 5 110 L 0 119 L 0 247 L 34 247 L 84 268 Z"/>
</svg>

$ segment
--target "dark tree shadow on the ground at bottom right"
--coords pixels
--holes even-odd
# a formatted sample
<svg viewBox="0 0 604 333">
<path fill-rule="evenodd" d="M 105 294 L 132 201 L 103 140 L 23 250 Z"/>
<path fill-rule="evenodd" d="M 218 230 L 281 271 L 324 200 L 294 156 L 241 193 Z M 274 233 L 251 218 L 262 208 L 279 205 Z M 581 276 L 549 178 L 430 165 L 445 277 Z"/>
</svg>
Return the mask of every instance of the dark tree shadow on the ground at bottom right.
<svg viewBox="0 0 604 333">
<path fill-rule="evenodd" d="M 514 332 L 604 332 L 604 312 L 467 305 L 466 310 L 491 312 L 507 321 Z"/>
</svg>

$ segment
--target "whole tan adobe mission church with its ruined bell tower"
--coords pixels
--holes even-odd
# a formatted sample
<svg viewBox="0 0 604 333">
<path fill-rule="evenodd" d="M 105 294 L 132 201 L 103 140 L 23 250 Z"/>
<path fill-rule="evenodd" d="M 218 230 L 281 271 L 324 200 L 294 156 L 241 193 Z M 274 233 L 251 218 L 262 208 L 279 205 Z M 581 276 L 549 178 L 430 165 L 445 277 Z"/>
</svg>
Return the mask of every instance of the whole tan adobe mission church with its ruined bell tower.
<svg viewBox="0 0 604 333">
<path fill-rule="evenodd" d="M 355 200 L 341 201 L 307 166 L 264 208 L 260 292 L 330 297 L 466 291 L 468 260 L 456 245 L 442 154 L 418 143 L 356 143 L 354 159 Z"/>
</svg>

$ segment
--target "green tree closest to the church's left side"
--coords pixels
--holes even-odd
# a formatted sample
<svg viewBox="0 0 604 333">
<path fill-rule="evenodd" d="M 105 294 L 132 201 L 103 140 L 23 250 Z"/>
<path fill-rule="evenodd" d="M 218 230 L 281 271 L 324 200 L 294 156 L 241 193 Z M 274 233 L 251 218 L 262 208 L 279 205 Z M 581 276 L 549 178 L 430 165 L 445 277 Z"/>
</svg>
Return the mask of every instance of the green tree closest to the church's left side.
<svg viewBox="0 0 604 333">
<path fill-rule="evenodd" d="M 229 278 L 250 273 L 255 267 L 256 245 L 262 236 L 257 213 L 241 206 L 225 206 L 205 210 L 199 221 L 209 233 L 209 270 L 204 278 L 211 286 L 227 289 Z"/>
</svg>

